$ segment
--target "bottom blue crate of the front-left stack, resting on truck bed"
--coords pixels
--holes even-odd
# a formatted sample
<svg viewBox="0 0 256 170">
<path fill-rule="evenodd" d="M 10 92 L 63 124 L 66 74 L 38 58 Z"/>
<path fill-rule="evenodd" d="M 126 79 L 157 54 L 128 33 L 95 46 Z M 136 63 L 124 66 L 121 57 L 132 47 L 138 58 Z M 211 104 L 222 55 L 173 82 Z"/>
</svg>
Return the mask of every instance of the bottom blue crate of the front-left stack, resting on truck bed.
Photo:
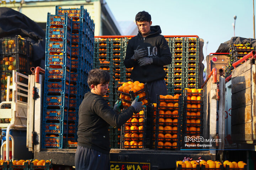
<svg viewBox="0 0 256 170">
<path fill-rule="evenodd" d="M 63 149 L 65 148 L 65 145 L 66 145 L 66 138 L 64 138 L 63 136 L 66 136 L 66 134 L 65 135 L 55 134 L 55 136 L 49 135 L 49 134 L 43 134 L 41 147 Z"/>
</svg>

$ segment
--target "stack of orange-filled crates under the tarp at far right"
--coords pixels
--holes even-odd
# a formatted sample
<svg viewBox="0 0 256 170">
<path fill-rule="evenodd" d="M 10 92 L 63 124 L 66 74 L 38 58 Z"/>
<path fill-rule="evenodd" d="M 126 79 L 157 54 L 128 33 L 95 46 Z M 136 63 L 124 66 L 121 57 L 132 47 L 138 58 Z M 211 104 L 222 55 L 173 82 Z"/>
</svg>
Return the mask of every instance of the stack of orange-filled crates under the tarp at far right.
<svg viewBox="0 0 256 170">
<path fill-rule="evenodd" d="M 225 67 L 225 77 L 229 77 L 231 75 L 232 70 L 234 69 L 232 64 L 240 60 L 252 50 L 256 50 L 256 47 L 252 47 L 251 44 L 231 44 L 229 46 L 229 62 L 228 65 Z"/>
</svg>

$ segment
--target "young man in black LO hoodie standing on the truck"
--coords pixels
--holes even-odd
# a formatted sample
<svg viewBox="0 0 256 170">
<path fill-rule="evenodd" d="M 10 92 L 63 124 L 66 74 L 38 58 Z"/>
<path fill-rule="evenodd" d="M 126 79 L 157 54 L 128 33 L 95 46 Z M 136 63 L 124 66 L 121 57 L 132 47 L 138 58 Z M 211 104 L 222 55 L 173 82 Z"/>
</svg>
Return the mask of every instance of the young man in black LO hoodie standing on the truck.
<svg viewBox="0 0 256 170">
<path fill-rule="evenodd" d="M 150 102 L 156 95 L 167 95 L 165 65 L 171 64 L 171 52 L 160 26 L 151 26 L 151 16 L 142 11 L 135 17 L 139 33 L 128 41 L 124 66 L 132 68 L 131 79 L 147 83 Z"/>
</svg>

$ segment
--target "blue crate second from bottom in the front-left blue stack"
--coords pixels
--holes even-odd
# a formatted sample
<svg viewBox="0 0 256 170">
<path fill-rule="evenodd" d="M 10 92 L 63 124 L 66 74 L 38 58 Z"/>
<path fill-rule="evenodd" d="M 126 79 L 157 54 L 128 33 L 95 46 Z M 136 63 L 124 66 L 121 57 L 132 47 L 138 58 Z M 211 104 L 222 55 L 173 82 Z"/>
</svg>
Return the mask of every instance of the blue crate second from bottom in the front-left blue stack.
<svg viewBox="0 0 256 170">
<path fill-rule="evenodd" d="M 42 134 L 58 134 L 63 135 L 67 133 L 67 124 L 66 122 L 59 121 L 58 123 L 47 123 L 43 121 L 42 123 Z"/>
</svg>

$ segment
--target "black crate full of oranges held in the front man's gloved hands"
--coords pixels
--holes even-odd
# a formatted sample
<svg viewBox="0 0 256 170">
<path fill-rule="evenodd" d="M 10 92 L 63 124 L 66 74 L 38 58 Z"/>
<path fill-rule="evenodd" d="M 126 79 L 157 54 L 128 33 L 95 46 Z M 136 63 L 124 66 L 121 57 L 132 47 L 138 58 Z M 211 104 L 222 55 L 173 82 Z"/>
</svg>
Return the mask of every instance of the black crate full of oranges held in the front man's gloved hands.
<svg viewBox="0 0 256 170">
<path fill-rule="evenodd" d="M 139 96 L 138 101 L 143 105 L 150 103 L 147 84 L 139 81 L 121 82 L 122 86 L 116 87 L 118 100 L 122 101 L 122 106 L 129 107 L 136 96 Z"/>
</svg>

